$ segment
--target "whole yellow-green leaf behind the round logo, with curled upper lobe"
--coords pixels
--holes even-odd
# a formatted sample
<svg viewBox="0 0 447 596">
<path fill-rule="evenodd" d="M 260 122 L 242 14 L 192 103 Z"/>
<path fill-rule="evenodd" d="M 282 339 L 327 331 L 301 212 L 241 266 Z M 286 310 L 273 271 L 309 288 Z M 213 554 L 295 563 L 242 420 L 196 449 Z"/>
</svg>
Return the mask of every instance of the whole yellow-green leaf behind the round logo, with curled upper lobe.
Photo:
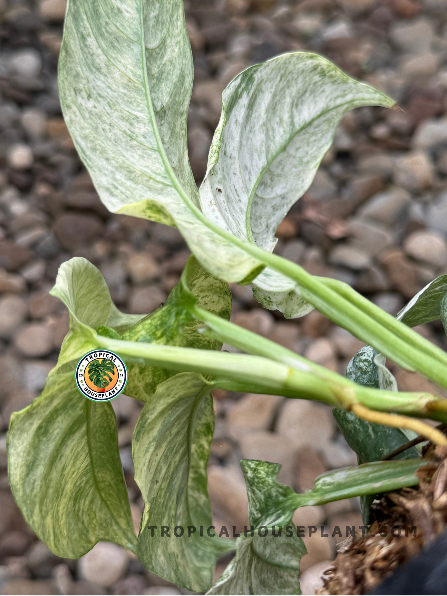
<svg viewBox="0 0 447 596">
<path fill-rule="evenodd" d="M 26 522 L 60 557 L 80 557 L 99 540 L 135 549 L 113 409 L 80 395 L 74 371 L 98 346 L 95 328 L 117 333 L 141 317 L 120 313 L 101 273 L 79 257 L 61 265 L 51 293 L 69 309 L 70 330 L 42 395 L 11 417 L 11 489 Z"/>
</svg>

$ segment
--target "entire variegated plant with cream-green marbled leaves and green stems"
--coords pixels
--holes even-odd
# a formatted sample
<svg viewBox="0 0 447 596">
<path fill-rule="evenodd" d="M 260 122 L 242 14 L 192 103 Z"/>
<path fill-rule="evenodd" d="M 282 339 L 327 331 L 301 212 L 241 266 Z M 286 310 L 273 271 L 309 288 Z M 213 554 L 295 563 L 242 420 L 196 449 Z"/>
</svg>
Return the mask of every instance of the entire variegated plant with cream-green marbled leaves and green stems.
<svg viewBox="0 0 447 596">
<path fill-rule="evenodd" d="M 176 226 L 193 253 L 166 303 L 147 316 L 113 305 L 85 259 L 64 263 L 54 296 L 70 331 L 42 395 L 11 418 L 8 469 L 27 523 L 55 554 L 80 557 L 96 542 L 135 552 L 151 572 L 192 591 L 210 588 L 219 556 L 236 555 L 209 594 L 300 594 L 306 549 L 297 507 L 361 496 L 365 523 L 378 492 L 417 485 L 415 448 L 378 461 L 420 433 L 447 444 L 419 418 L 447 422 L 447 402 L 397 392 L 386 358 L 447 387 L 447 355 L 411 330 L 447 319 L 447 276 L 395 319 L 348 285 L 313 277 L 272 254 L 275 231 L 305 193 L 347 111 L 393 100 L 315 54 L 291 52 L 235 77 L 206 178 L 195 186 L 187 154 L 193 60 L 181 0 L 68 0 L 60 54 L 64 117 L 77 151 L 111 212 Z M 254 297 L 287 317 L 313 308 L 365 346 L 347 378 L 229 322 L 228 282 L 253 281 Z M 228 343 L 243 353 L 221 352 Z M 133 439 L 145 508 L 135 536 L 110 403 L 77 391 L 73 371 L 89 350 L 125 359 L 126 393 L 145 402 Z M 237 541 L 202 533 L 174 540 L 153 526 L 209 527 L 206 465 L 213 389 L 316 399 L 334 415 L 359 466 L 319 477 L 297 495 L 277 464 L 242 462 L 254 528 L 281 525 L 291 538 Z M 385 425 L 385 426 L 384 426 Z"/>
</svg>

